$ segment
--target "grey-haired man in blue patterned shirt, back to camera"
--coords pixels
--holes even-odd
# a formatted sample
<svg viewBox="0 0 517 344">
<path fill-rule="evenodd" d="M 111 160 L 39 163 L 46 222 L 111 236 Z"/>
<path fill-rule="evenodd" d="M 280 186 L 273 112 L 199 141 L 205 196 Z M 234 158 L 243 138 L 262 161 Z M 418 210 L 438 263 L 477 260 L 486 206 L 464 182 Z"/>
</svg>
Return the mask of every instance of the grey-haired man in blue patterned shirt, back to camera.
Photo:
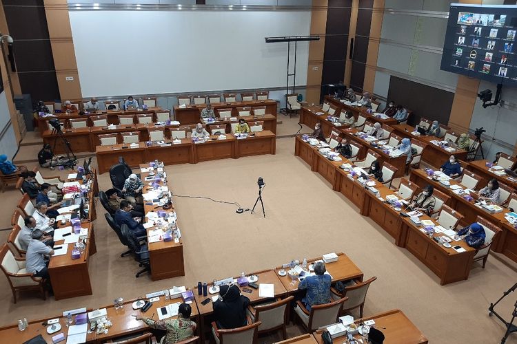
<svg viewBox="0 0 517 344">
<path fill-rule="evenodd" d="M 323 261 L 314 264 L 314 273 L 316 275 L 305 277 L 298 284 L 298 289 L 307 290 L 307 294 L 302 299 L 305 308 L 310 312 L 313 305 L 323 305 L 330 302 L 330 284 L 332 277 L 325 275 L 327 269 Z"/>
</svg>

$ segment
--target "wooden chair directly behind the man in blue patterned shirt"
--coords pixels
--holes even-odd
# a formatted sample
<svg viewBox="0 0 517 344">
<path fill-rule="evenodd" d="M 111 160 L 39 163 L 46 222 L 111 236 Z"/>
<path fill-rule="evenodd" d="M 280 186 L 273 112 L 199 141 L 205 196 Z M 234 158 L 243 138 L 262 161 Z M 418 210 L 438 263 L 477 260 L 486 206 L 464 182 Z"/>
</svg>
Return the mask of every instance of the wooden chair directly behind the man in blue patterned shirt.
<svg viewBox="0 0 517 344">
<path fill-rule="evenodd" d="M 312 305 L 310 312 L 305 308 L 301 301 L 296 301 L 294 312 L 302 321 L 307 331 L 312 333 L 319 327 L 336 323 L 341 312 L 341 308 L 343 308 L 343 303 L 346 300 L 347 297 L 343 297 L 343 299 L 324 303 L 323 305 Z"/>
</svg>

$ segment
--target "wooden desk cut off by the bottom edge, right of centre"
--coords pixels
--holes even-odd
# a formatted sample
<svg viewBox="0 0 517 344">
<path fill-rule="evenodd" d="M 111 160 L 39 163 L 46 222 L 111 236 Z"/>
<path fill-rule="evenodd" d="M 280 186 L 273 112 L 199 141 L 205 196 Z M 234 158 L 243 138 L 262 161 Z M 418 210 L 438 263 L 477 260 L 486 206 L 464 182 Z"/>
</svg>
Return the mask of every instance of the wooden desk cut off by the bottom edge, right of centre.
<svg viewBox="0 0 517 344">
<path fill-rule="evenodd" d="M 358 325 L 364 321 L 374 320 L 375 327 L 383 332 L 384 344 L 427 344 L 427 338 L 418 330 L 418 328 L 410 321 L 401 310 L 390 310 L 388 312 L 379 313 L 358 319 L 355 323 Z M 384 328 L 383 328 L 384 327 Z M 323 330 L 314 332 L 316 343 L 323 344 L 321 333 Z M 355 334 L 354 338 L 361 338 L 361 334 Z M 334 338 L 336 343 L 346 343 L 345 336 Z M 298 343 L 298 342 L 294 342 Z"/>
</svg>

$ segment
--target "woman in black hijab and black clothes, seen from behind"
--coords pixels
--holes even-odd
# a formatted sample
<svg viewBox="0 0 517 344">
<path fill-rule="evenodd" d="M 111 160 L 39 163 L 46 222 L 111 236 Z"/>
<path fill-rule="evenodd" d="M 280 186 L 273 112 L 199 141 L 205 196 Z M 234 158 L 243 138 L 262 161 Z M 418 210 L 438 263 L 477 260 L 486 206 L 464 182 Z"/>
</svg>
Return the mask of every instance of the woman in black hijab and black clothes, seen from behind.
<svg viewBox="0 0 517 344">
<path fill-rule="evenodd" d="M 249 304 L 250 299 L 241 295 L 238 286 L 221 286 L 219 299 L 212 304 L 217 327 L 231 329 L 247 325 L 246 309 Z"/>
</svg>

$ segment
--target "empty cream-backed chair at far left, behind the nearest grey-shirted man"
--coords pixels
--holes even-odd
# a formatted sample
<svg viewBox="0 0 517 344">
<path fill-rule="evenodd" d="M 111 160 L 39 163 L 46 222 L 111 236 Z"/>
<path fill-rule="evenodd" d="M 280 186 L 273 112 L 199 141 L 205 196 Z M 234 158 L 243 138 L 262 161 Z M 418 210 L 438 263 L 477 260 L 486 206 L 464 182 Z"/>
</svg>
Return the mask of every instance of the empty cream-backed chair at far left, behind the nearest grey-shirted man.
<svg viewBox="0 0 517 344">
<path fill-rule="evenodd" d="M 31 290 L 37 290 L 43 300 L 46 300 L 43 279 L 28 273 L 25 259 L 15 257 L 8 244 L 3 244 L 0 248 L 0 262 L 0 267 L 9 281 L 14 303 L 17 303 L 17 292 Z"/>
</svg>

